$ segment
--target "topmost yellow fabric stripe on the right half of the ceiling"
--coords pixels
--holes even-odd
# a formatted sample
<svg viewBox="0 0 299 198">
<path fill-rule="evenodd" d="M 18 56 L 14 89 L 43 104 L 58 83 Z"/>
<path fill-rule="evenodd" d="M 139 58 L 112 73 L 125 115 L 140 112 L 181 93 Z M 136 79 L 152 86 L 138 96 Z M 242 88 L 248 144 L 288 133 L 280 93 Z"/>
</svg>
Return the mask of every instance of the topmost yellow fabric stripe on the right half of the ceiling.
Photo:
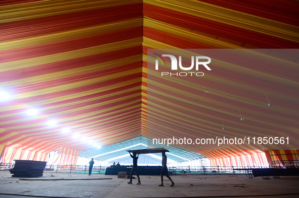
<svg viewBox="0 0 299 198">
<path fill-rule="evenodd" d="M 144 3 L 235 27 L 299 42 L 299 28 L 197 0 L 145 0 Z M 198 24 L 200 25 L 200 24 Z M 219 35 L 221 36 L 221 35 Z"/>
</svg>

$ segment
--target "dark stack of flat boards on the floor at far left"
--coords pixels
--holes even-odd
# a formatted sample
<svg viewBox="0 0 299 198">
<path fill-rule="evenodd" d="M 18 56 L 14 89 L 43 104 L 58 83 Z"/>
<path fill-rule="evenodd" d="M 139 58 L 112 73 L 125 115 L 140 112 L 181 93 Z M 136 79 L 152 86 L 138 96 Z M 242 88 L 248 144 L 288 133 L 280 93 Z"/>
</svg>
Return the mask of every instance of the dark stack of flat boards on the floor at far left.
<svg viewBox="0 0 299 198">
<path fill-rule="evenodd" d="M 14 168 L 10 169 L 12 177 L 41 177 L 47 162 L 32 160 L 15 160 Z"/>
</svg>

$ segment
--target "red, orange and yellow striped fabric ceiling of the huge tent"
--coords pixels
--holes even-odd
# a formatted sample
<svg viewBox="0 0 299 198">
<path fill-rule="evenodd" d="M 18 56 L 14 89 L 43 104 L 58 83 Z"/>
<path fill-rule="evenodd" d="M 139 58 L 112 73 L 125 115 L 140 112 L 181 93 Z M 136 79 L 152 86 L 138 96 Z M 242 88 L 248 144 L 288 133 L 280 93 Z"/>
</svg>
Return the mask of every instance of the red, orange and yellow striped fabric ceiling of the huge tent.
<svg viewBox="0 0 299 198">
<path fill-rule="evenodd" d="M 298 134 L 296 54 L 287 69 L 220 65 L 200 86 L 161 82 L 146 62 L 147 49 L 298 48 L 296 2 L 4 0 L 0 6 L 0 87 L 11 93 L 0 103 L 0 146 L 83 152 L 93 149 L 89 141 L 108 148 L 140 136 L 216 137 L 224 134 L 222 120 L 231 137 Z M 155 82 L 151 90 L 147 79 Z M 270 108 L 265 92 L 275 104 Z M 148 104 L 156 116 L 151 128 Z M 26 115 L 32 107 L 38 115 Z M 49 119 L 57 125 L 48 126 Z M 175 146 L 208 158 L 259 149 Z"/>
</svg>

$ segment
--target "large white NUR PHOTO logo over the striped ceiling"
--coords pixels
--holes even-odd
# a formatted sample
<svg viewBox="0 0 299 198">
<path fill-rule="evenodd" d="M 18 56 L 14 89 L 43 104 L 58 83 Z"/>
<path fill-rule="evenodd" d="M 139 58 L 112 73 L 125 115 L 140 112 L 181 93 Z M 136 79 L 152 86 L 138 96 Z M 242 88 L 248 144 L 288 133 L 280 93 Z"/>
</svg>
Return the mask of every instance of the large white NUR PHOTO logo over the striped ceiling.
<svg viewBox="0 0 299 198">
<path fill-rule="evenodd" d="M 154 53 L 157 59 L 155 60 L 155 70 L 159 70 L 159 62 L 162 64 L 162 67 L 166 66 L 166 61 L 163 57 L 170 58 L 171 61 L 171 70 L 172 71 L 178 71 L 178 65 L 181 70 L 184 71 L 190 71 L 194 68 L 194 62 L 195 62 L 195 70 L 198 71 L 202 66 L 206 70 L 211 70 L 208 67 L 208 63 L 211 62 L 211 58 L 208 56 L 191 56 L 191 65 L 189 66 L 183 66 L 182 65 L 182 56 L 179 56 L 179 61 L 176 56 L 171 54 L 162 54 L 162 56 L 159 56 L 158 54 Z M 178 64 L 179 63 L 179 64 Z M 203 76 L 203 72 L 161 72 L 161 76 Z"/>
</svg>

